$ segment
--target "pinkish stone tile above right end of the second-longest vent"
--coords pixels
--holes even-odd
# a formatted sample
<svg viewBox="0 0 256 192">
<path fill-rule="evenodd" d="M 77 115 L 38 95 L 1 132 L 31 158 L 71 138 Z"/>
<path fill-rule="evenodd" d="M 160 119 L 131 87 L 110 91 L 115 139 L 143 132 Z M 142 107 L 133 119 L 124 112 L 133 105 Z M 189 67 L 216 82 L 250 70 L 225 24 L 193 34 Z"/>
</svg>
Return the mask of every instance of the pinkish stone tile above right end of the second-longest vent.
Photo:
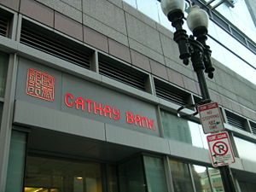
<svg viewBox="0 0 256 192">
<path fill-rule="evenodd" d="M 138 53 L 136 50 L 133 49 L 131 49 L 131 63 L 151 73 L 151 67 L 148 57 Z"/>
</svg>

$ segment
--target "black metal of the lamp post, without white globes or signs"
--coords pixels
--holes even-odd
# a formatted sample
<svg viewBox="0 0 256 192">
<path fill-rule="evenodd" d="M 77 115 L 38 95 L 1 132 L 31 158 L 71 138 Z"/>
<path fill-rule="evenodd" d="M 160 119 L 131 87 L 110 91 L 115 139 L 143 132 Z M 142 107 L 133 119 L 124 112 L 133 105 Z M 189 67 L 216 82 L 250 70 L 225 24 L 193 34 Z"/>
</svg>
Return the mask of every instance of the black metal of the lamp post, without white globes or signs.
<svg viewBox="0 0 256 192">
<path fill-rule="evenodd" d="M 189 57 L 192 61 L 194 71 L 197 75 L 199 82 L 202 103 L 205 104 L 211 102 L 209 90 L 207 87 L 207 80 L 205 78 L 204 70 L 208 73 L 209 78 L 213 78 L 214 67 L 212 67 L 211 62 L 211 50 L 207 46 L 207 28 L 198 27 L 193 31 L 194 36 L 188 38 L 186 32 L 183 30 L 183 13 L 173 11 L 167 16 L 168 20 L 172 22 L 172 26 L 176 28 L 174 32 L 174 41 L 178 44 L 180 56 L 179 58 L 183 60 L 185 65 L 189 64 Z M 195 40 L 195 37 L 197 38 Z M 233 179 L 231 177 L 229 166 L 220 166 L 219 171 L 221 177 L 223 178 L 224 190 L 225 192 L 236 192 Z"/>
</svg>

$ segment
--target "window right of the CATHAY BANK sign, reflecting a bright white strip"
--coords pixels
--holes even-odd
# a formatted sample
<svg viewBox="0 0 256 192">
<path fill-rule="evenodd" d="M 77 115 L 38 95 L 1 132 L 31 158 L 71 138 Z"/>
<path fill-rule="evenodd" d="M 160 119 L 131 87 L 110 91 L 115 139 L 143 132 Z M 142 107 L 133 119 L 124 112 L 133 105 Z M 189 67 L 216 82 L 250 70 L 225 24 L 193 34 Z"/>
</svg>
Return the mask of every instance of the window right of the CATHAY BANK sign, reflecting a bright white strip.
<svg viewBox="0 0 256 192">
<path fill-rule="evenodd" d="M 188 143 L 198 148 L 208 148 L 207 136 L 203 133 L 201 125 L 179 118 L 176 115 L 160 111 L 164 137 L 182 143 Z"/>
</svg>

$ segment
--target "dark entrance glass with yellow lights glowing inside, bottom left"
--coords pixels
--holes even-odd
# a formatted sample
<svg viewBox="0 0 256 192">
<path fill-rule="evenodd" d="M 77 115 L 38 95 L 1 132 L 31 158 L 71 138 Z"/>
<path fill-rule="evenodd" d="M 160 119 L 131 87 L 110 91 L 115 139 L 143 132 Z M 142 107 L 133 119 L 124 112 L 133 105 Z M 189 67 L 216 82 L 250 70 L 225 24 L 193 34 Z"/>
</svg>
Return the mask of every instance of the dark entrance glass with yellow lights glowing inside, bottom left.
<svg viewBox="0 0 256 192">
<path fill-rule="evenodd" d="M 30 155 L 26 164 L 25 192 L 102 192 L 98 163 Z"/>
</svg>

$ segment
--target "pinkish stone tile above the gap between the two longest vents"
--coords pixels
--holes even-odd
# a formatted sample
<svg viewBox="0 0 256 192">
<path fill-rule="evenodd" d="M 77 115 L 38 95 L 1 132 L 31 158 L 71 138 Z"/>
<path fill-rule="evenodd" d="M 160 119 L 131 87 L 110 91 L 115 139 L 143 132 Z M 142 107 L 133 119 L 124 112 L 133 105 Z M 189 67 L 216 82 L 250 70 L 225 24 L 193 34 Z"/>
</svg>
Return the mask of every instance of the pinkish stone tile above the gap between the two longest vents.
<svg viewBox="0 0 256 192">
<path fill-rule="evenodd" d="M 108 38 L 87 26 L 84 26 L 84 43 L 108 53 Z"/>
</svg>

